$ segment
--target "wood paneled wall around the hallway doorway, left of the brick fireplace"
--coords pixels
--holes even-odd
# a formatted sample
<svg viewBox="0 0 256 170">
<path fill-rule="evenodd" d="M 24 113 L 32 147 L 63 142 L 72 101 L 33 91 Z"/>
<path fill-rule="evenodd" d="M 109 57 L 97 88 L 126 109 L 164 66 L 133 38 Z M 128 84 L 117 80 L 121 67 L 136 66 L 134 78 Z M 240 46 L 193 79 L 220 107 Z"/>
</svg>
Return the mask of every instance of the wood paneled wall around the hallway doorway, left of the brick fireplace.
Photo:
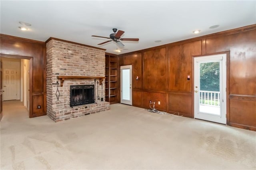
<svg viewBox="0 0 256 170">
<path fill-rule="evenodd" d="M 45 42 L 0 34 L 0 53 L 1 57 L 30 59 L 30 117 L 46 115 Z"/>
</svg>

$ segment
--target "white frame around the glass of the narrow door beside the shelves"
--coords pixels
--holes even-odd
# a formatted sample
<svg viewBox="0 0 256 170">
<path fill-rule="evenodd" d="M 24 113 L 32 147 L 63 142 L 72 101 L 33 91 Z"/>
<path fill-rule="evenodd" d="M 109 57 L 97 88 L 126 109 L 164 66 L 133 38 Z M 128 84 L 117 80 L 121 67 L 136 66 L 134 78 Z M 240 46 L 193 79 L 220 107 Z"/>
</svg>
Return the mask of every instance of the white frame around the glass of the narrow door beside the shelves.
<svg viewBox="0 0 256 170">
<path fill-rule="evenodd" d="M 123 82 L 122 82 L 123 75 L 122 75 L 122 70 L 124 70 L 124 69 L 130 69 L 130 100 L 123 99 L 123 93 L 122 93 L 122 91 L 123 91 L 123 89 L 122 89 L 123 88 L 123 86 L 122 86 L 122 84 L 123 84 Z M 120 103 L 123 103 L 123 104 L 126 104 L 126 105 L 132 105 L 132 65 L 120 66 L 120 85 L 121 85 L 121 88 L 120 88 L 121 89 Z"/>
</svg>

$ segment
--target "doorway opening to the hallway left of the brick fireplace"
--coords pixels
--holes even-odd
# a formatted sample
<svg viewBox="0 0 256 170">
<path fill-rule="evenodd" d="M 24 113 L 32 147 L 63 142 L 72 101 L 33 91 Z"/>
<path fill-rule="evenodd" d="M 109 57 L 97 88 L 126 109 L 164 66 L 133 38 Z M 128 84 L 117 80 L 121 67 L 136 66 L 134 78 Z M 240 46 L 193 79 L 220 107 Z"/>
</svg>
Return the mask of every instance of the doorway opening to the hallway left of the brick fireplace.
<svg viewBox="0 0 256 170">
<path fill-rule="evenodd" d="M 29 117 L 30 112 L 30 59 L 2 57 L 3 115 L 18 114 Z M 12 112 L 13 109 L 16 112 Z M 18 109 L 19 108 L 19 109 Z"/>
</svg>

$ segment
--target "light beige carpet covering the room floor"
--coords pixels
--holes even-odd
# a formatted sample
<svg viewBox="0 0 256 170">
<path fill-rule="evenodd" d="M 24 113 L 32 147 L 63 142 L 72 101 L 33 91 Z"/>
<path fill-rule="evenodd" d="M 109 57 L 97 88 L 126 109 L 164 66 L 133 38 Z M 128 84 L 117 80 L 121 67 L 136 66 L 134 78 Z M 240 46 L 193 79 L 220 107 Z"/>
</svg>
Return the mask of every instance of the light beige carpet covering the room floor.
<svg viewBox="0 0 256 170">
<path fill-rule="evenodd" d="M 54 123 L 4 102 L 1 169 L 256 169 L 256 132 L 122 104 Z"/>
</svg>

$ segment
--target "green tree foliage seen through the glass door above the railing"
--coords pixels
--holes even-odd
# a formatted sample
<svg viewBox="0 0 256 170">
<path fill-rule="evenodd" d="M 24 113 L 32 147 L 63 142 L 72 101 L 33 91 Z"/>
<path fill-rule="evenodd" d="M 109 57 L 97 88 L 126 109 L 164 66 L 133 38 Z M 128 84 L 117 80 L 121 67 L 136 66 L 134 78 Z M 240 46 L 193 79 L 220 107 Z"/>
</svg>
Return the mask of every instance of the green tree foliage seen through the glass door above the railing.
<svg viewBox="0 0 256 170">
<path fill-rule="evenodd" d="M 200 63 L 200 90 L 220 91 L 220 63 Z"/>
</svg>

